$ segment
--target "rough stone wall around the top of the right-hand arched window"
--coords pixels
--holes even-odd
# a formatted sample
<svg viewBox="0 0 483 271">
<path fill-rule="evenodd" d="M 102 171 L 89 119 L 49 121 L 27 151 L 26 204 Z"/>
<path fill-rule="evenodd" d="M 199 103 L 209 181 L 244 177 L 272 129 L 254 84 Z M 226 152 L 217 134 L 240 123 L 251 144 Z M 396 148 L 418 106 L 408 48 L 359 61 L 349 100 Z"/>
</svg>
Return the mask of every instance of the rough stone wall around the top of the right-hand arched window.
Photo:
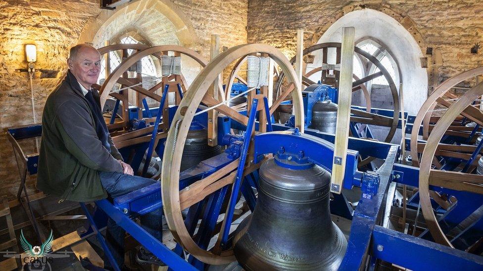
<svg viewBox="0 0 483 271">
<path fill-rule="evenodd" d="M 305 31 L 305 46 L 316 43 L 344 14 L 372 8 L 393 17 L 413 35 L 429 57 L 430 86 L 462 71 L 483 65 L 483 52 L 470 48 L 482 42 L 483 2 L 479 0 L 249 0 L 248 42 L 274 45 L 295 54 L 297 29 Z M 434 82 L 432 82 L 433 80 Z"/>
</svg>

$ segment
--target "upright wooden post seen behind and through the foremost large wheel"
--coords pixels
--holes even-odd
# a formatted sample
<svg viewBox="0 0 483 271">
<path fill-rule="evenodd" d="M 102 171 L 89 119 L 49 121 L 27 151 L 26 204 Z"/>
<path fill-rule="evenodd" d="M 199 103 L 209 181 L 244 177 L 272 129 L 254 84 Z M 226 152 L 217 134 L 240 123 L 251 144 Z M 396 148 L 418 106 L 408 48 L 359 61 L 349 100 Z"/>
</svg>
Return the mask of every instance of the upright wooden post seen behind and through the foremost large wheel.
<svg viewBox="0 0 483 271">
<path fill-rule="evenodd" d="M 220 35 L 211 35 L 210 60 L 213 60 L 220 53 Z M 208 89 L 208 95 L 216 101 L 220 101 L 218 83 L 220 76 L 216 77 L 213 84 Z M 218 145 L 218 111 L 212 109 L 208 111 L 208 145 Z"/>
</svg>

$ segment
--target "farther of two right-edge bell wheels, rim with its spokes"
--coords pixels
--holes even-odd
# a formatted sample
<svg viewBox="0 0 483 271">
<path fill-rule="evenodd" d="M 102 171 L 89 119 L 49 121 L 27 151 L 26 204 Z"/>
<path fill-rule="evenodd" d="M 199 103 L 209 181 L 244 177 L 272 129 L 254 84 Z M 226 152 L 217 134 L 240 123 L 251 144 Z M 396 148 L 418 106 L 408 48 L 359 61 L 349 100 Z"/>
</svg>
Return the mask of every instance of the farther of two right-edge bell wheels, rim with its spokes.
<svg viewBox="0 0 483 271">
<path fill-rule="evenodd" d="M 419 135 L 419 127 L 423 123 L 423 138 L 428 138 L 430 129 L 432 128 L 430 126 L 430 122 L 432 121 L 432 113 L 433 110 L 435 109 L 436 105 L 442 105 L 446 108 L 449 108 L 452 105 L 451 101 L 446 101 L 443 99 L 443 96 L 447 96 L 449 98 L 455 98 L 454 95 L 449 93 L 449 90 L 453 88 L 455 85 L 458 83 L 468 80 L 473 77 L 477 77 L 479 75 L 483 74 L 483 67 L 475 68 L 469 71 L 466 71 L 464 73 L 461 73 L 459 75 L 450 77 L 449 79 L 445 80 L 441 84 L 439 84 L 433 93 L 428 97 L 428 99 L 423 103 L 421 106 L 421 109 L 418 112 L 418 115 L 416 115 L 416 118 L 414 120 L 413 124 L 413 130 L 411 132 L 411 159 L 413 162 L 414 166 L 419 165 L 419 157 L 417 153 L 417 144 L 418 144 L 418 135 Z M 483 114 L 480 110 L 477 108 L 473 107 L 472 105 L 469 105 L 466 109 L 464 109 L 461 112 L 462 116 L 465 116 L 476 123 L 480 124 L 483 126 Z M 434 117 L 436 120 L 438 119 L 437 117 Z M 456 129 L 454 128 L 454 125 L 449 126 L 449 130 L 451 129 Z M 461 128 L 461 127 L 460 127 Z M 434 128 L 433 128 L 434 129 Z M 458 129 L 461 131 L 461 129 Z M 457 133 L 458 131 L 453 131 L 453 133 Z"/>
</svg>

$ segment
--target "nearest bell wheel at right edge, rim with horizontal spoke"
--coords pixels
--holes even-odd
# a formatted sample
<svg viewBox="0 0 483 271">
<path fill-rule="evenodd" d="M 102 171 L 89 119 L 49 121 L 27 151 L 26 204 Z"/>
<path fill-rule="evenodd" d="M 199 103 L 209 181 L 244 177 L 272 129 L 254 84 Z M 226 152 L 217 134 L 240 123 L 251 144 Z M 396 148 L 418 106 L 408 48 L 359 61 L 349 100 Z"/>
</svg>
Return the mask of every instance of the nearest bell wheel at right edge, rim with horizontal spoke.
<svg viewBox="0 0 483 271">
<path fill-rule="evenodd" d="M 421 157 L 419 171 L 419 193 L 423 215 L 433 238 L 437 243 L 453 247 L 441 230 L 431 204 L 429 186 L 445 187 L 452 190 L 483 194 L 483 176 L 463 172 L 432 169 L 432 161 L 437 151 L 439 141 L 448 130 L 454 119 L 462 114 L 471 104 L 483 95 L 483 83 L 476 85 L 452 103 L 444 115 L 435 124 L 428 137 L 426 147 Z M 480 113 L 481 111 L 478 110 Z M 412 150 L 411 150 L 412 151 Z"/>
</svg>

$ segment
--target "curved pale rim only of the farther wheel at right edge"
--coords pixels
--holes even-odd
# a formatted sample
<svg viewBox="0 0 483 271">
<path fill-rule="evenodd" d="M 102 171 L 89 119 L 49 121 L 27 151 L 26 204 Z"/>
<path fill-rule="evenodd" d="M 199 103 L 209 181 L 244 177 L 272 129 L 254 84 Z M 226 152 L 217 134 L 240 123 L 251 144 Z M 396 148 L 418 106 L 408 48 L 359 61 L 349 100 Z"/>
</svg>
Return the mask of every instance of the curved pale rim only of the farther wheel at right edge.
<svg viewBox="0 0 483 271">
<path fill-rule="evenodd" d="M 448 92 L 452 87 L 458 84 L 461 81 L 467 80 L 472 77 L 476 77 L 478 75 L 483 74 L 483 67 L 475 68 L 459 75 L 450 77 L 449 79 L 445 80 L 441 84 L 439 84 L 433 93 L 428 97 L 428 99 L 423 103 L 421 109 L 416 115 L 413 123 L 413 130 L 411 132 L 411 159 L 414 166 L 419 166 L 419 157 L 418 157 L 418 135 L 419 135 L 419 127 L 423 123 L 423 120 L 429 124 L 428 115 L 431 116 L 431 112 L 436 107 L 436 100 L 437 98 L 444 95 L 444 93 Z"/>
</svg>

